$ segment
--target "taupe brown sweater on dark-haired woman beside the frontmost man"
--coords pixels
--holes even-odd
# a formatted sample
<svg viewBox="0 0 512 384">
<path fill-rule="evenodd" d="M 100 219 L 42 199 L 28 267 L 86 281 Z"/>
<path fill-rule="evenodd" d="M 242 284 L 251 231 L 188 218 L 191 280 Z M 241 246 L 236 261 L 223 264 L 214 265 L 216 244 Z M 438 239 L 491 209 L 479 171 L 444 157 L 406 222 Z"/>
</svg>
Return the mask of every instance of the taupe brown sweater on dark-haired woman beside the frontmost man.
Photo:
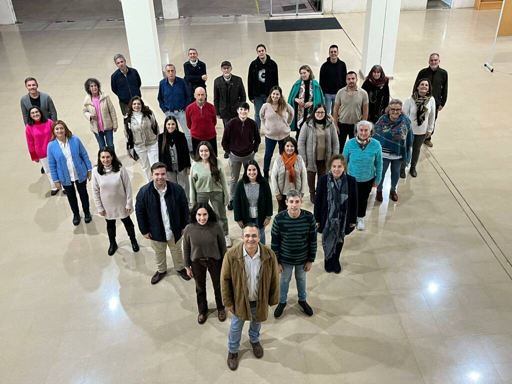
<svg viewBox="0 0 512 384">
<path fill-rule="evenodd" d="M 226 253 L 226 239 L 219 223 L 188 224 L 183 231 L 183 262 L 190 267 L 191 262 L 201 258 L 221 260 Z"/>
</svg>

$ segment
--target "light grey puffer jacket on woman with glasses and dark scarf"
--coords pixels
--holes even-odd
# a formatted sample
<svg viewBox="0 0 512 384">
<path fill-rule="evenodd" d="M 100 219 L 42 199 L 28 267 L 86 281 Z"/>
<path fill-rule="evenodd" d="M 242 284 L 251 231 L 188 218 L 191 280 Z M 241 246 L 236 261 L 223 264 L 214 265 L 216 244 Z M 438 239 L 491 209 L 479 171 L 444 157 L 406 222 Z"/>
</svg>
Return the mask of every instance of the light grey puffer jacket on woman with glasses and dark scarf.
<svg viewBox="0 0 512 384">
<path fill-rule="evenodd" d="M 332 121 L 326 120 L 325 137 L 325 161 L 327 164 L 332 155 L 339 153 L 338 135 Z M 298 137 L 297 148 L 298 153 L 305 159 L 306 170 L 318 172 L 316 169 L 316 129 L 313 120 L 303 126 L 301 135 Z"/>
</svg>

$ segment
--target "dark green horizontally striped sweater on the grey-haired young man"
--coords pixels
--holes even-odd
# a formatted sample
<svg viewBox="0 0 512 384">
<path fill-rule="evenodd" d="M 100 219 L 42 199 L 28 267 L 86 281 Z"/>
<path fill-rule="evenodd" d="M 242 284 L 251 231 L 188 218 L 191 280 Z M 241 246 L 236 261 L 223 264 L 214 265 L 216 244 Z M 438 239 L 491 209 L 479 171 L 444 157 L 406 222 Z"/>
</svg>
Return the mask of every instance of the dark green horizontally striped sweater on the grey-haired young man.
<svg viewBox="0 0 512 384">
<path fill-rule="evenodd" d="M 302 265 L 315 261 L 316 224 L 311 212 L 301 209 L 295 219 L 288 215 L 288 210 L 279 212 L 274 217 L 271 235 L 271 248 L 279 264 Z"/>
</svg>

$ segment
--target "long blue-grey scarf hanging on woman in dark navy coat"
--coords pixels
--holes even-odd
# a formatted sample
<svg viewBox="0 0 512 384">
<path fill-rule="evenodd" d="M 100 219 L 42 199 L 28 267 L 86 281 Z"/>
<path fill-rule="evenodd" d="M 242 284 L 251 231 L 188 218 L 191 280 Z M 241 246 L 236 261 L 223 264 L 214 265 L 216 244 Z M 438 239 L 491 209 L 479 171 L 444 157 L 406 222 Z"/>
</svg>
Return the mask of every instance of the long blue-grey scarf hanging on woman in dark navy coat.
<svg viewBox="0 0 512 384">
<path fill-rule="evenodd" d="M 325 260 L 331 259 L 336 245 L 345 240 L 345 225 L 348 210 L 348 184 L 345 172 L 335 180 L 332 172 L 327 174 L 327 221 L 322 233 Z"/>
</svg>

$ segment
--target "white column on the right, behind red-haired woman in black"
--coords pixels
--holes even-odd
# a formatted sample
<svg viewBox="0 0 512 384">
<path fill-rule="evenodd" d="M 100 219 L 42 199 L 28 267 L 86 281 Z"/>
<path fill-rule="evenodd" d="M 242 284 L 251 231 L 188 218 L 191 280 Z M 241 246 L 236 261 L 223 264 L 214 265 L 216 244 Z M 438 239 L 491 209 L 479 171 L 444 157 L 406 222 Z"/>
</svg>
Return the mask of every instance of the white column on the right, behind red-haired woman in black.
<svg viewBox="0 0 512 384">
<path fill-rule="evenodd" d="M 367 0 L 362 75 L 366 76 L 378 64 L 387 76 L 393 76 L 400 3 L 401 0 Z"/>
</svg>

